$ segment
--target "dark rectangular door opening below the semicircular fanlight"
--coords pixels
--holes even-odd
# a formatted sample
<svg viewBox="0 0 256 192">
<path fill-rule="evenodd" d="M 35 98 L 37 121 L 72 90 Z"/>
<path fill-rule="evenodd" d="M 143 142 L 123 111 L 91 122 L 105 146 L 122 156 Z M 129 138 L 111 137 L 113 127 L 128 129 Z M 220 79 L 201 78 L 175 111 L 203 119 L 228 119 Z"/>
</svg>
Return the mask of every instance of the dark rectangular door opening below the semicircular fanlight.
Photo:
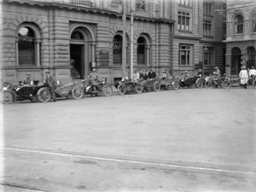
<svg viewBox="0 0 256 192">
<path fill-rule="evenodd" d="M 70 44 L 71 76 L 73 79 L 84 79 L 84 45 Z"/>
</svg>

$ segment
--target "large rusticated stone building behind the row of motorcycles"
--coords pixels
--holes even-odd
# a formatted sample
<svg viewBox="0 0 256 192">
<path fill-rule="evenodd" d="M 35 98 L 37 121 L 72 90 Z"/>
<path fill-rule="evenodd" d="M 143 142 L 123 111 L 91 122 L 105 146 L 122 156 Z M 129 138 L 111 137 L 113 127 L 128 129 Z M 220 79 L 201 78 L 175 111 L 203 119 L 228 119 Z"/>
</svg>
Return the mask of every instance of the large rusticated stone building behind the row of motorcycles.
<svg viewBox="0 0 256 192">
<path fill-rule="evenodd" d="M 113 84 L 130 73 L 131 13 L 134 68 L 159 75 L 224 70 L 224 15 L 216 12 L 223 7 L 203 0 L 4 0 L 1 79 L 17 83 L 31 73 L 41 82 L 49 69 L 67 83 L 96 68 Z"/>
</svg>

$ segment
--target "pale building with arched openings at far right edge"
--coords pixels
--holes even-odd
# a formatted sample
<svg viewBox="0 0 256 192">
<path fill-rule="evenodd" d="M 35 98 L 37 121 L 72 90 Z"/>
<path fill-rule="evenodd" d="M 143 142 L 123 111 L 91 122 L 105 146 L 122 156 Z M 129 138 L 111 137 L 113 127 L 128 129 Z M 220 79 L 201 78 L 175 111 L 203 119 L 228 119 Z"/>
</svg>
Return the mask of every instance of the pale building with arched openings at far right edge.
<svg viewBox="0 0 256 192">
<path fill-rule="evenodd" d="M 256 2 L 228 0 L 226 11 L 226 72 L 238 74 L 242 66 L 256 64 Z"/>
</svg>

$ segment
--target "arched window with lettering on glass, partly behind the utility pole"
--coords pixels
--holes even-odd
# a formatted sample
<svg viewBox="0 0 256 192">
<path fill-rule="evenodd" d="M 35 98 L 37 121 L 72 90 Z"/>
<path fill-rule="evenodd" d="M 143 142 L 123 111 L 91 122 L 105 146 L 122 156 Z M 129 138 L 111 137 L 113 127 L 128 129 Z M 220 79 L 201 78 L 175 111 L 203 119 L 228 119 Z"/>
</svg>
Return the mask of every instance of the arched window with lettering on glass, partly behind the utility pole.
<svg viewBox="0 0 256 192">
<path fill-rule="evenodd" d="M 122 65 L 122 41 L 123 38 L 120 35 L 113 38 L 113 64 Z"/>
</svg>

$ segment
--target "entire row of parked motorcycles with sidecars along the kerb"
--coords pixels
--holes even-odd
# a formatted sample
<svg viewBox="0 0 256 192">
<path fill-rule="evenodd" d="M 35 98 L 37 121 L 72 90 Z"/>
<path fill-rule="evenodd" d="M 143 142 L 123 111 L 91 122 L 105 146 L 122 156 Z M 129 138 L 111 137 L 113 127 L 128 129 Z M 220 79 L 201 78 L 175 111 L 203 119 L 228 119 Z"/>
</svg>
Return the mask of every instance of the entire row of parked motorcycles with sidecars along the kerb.
<svg viewBox="0 0 256 192">
<path fill-rule="evenodd" d="M 160 91 L 160 89 L 169 90 L 170 88 L 177 90 L 179 87 L 191 87 L 207 88 L 212 87 L 224 87 L 229 89 L 230 87 L 240 86 L 240 79 L 237 75 L 226 75 L 210 77 L 192 76 L 184 79 L 178 77 L 169 77 L 166 79 L 148 79 L 132 81 L 128 78 L 123 78 L 121 81 L 114 84 L 119 95 L 125 95 L 128 92 L 140 94 L 143 91 L 154 90 Z M 248 85 L 252 85 L 256 89 L 256 77 L 250 77 Z M 112 86 L 107 84 L 107 79 L 99 79 L 98 81 L 91 81 L 90 79 L 84 79 L 81 82 L 72 82 L 69 84 L 55 84 L 55 96 L 67 97 L 73 99 L 80 99 L 83 96 L 111 96 L 113 93 Z M 0 92 L 0 101 L 4 104 L 11 102 L 30 100 L 31 102 L 49 102 L 51 94 L 49 87 L 46 84 L 38 85 L 20 85 L 3 83 Z"/>
</svg>

